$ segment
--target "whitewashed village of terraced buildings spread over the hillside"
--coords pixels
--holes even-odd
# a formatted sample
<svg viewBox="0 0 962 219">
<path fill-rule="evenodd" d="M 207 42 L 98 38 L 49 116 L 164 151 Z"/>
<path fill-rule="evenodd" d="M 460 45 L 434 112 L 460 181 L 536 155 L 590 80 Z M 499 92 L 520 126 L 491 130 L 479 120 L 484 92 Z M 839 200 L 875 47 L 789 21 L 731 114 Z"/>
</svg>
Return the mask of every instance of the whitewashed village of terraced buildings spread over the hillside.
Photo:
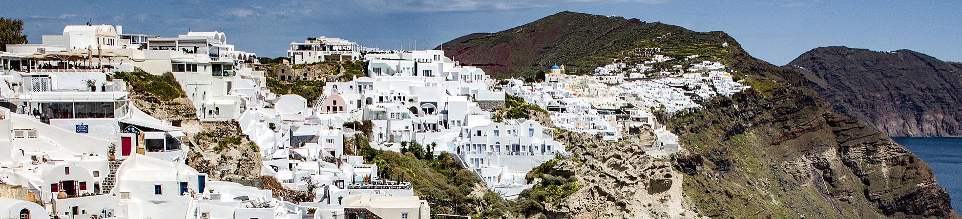
<svg viewBox="0 0 962 219">
<path fill-rule="evenodd" d="M 0 218 L 427 219 L 436 216 L 428 200 L 405 179 L 382 178 L 377 163 L 357 155 L 355 138 L 381 151 L 418 145 L 428 155 L 446 153 L 514 199 L 533 186 L 529 171 L 570 156 L 556 129 L 608 141 L 652 132 L 657 140 L 646 153 L 668 158 L 683 149 L 656 112 L 697 109 L 701 100 L 748 88 L 720 62 L 664 56 L 659 48 L 635 49 L 593 72 L 545 66 L 542 82 L 495 80 L 441 50 L 380 50 L 335 37 L 286 49 L 287 65 L 366 65 L 338 80 L 290 67 L 267 71 L 221 32 L 161 37 L 111 25 L 66 26 L 38 44 L 7 45 L 0 54 Z M 192 119 L 236 124 L 260 157 L 254 174 L 282 188 L 191 167 L 193 154 L 226 155 L 195 147 L 190 136 L 208 134 L 202 125 L 135 104 L 137 87 L 118 77 L 128 72 L 170 75 L 190 100 Z M 271 80 L 324 83 L 313 98 L 272 92 Z M 512 98 L 546 111 L 553 125 L 497 115 Z M 286 199 L 278 189 L 314 198 Z"/>
</svg>

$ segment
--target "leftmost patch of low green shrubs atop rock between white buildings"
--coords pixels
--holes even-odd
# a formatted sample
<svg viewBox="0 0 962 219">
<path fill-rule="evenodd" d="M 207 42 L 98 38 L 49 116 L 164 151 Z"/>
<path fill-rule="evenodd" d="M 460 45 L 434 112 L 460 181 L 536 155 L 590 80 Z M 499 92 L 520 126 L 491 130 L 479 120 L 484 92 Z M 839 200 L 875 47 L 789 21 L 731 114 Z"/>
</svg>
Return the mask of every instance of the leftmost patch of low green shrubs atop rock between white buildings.
<svg viewBox="0 0 962 219">
<path fill-rule="evenodd" d="M 184 90 L 170 72 L 161 76 L 143 71 L 117 72 L 114 73 L 114 78 L 127 82 L 127 86 L 132 87 L 135 92 L 153 94 L 161 101 L 185 96 Z"/>
</svg>

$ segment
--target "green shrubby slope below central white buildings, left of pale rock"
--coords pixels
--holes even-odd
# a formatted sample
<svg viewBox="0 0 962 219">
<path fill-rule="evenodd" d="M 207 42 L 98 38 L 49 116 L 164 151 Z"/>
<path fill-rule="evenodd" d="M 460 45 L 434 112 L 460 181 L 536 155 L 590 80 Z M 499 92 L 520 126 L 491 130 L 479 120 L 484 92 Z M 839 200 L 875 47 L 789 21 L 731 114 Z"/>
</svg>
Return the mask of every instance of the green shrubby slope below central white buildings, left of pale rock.
<svg viewBox="0 0 962 219">
<path fill-rule="evenodd" d="M 356 135 L 354 140 L 360 146 L 357 155 L 365 157 L 368 163 L 376 163 L 380 178 L 411 182 L 416 195 L 441 201 L 442 205 L 431 206 L 432 214 L 462 214 L 474 218 L 537 215 L 544 212 L 544 207 L 548 205 L 562 204 L 583 186 L 573 176 L 566 178 L 549 174 L 559 157 L 531 171 L 529 180 L 539 183 L 521 192 L 518 200 L 504 200 L 493 191 L 477 197 L 471 194 L 485 189 L 483 183 L 470 170 L 462 168 L 452 158 L 454 155 L 442 153 L 434 156 L 431 151 L 436 145 L 425 147 L 417 142 L 403 142 L 401 153 L 395 153 L 371 148 L 367 137 L 361 134 Z"/>
</svg>

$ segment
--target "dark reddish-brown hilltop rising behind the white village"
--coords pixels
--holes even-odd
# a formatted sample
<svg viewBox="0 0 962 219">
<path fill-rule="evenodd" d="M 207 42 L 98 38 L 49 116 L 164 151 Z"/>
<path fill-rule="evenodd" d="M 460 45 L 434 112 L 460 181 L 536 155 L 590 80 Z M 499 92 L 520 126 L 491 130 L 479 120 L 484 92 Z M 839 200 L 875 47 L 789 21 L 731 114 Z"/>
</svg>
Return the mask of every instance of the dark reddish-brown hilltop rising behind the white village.
<svg viewBox="0 0 962 219">
<path fill-rule="evenodd" d="M 540 71 L 554 64 L 567 64 L 569 72 L 582 72 L 608 62 L 606 55 L 637 47 L 642 39 L 684 31 L 638 19 L 559 12 L 494 34 L 458 37 L 440 47 L 451 59 L 495 75 Z"/>
</svg>

